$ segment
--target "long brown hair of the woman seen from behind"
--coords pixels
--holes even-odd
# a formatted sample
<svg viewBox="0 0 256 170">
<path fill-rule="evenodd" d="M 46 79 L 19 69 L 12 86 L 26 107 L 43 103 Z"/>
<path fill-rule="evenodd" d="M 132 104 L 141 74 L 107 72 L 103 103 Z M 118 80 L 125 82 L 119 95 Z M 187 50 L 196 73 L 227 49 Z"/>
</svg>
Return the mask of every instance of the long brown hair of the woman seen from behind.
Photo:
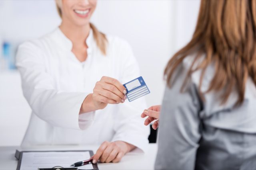
<svg viewBox="0 0 256 170">
<path fill-rule="evenodd" d="M 213 63 L 215 74 L 206 93 L 225 89 L 221 96 L 224 104 L 235 90 L 236 106 L 242 104 L 248 77 L 256 85 L 256 0 L 201 0 L 191 41 L 170 59 L 164 71 L 169 87 L 174 70 L 193 54 L 196 55 L 181 92 L 190 75 L 202 70 L 199 82 L 202 95 L 205 70 Z"/>
</svg>

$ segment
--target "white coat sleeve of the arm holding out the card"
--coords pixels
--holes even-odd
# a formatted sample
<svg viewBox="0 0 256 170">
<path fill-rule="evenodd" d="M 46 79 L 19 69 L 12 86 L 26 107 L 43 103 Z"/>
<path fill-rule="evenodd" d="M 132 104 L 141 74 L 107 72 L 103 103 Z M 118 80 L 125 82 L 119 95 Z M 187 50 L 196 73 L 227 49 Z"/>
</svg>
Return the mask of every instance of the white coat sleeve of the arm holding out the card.
<svg viewBox="0 0 256 170">
<path fill-rule="evenodd" d="M 46 60 L 40 45 L 26 42 L 19 46 L 16 66 L 20 72 L 24 97 L 32 111 L 52 126 L 85 129 L 94 118 L 94 112 L 79 115 L 83 92 L 57 90 L 54 78 L 46 72 Z"/>
</svg>

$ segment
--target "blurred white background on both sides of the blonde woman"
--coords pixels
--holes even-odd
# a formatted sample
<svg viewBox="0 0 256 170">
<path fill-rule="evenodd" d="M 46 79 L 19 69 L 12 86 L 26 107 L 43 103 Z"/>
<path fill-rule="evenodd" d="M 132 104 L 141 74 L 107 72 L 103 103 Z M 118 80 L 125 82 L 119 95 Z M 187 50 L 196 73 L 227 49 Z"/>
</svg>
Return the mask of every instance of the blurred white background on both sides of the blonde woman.
<svg viewBox="0 0 256 170">
<path fill-rule="evenodd" d="M 199 0 L 98 0 L 92 23 L 132 45 L 151 91 L 148 106 L 161 104 L 164 67 L 192 37 L 199 4 Z M 14 55 L 18 44 L 52 31 L 60 21 L 54 0 L 0 0 L 0 59 L 2 43 L 7 42 Z M 0 146 L 20 145 L 30 111 L 18 72 L 0 65 Z"/>
</svg>

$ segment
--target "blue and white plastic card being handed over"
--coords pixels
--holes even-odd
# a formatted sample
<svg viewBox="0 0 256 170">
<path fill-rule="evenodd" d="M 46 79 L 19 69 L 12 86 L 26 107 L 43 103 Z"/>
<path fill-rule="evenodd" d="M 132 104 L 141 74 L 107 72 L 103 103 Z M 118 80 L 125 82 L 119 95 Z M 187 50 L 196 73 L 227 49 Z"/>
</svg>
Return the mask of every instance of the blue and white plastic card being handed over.
<svg viewBox="0 0 256 170">
<path fill-rule="evenodd" d="M 135 78 L 134 80 L 123 85 L 126 88 L 126 97 L 128 98 L 129 102 L 132 102 L 150 93 L 148 86 L 146 85 L 142 76 Z"/>
</svg>

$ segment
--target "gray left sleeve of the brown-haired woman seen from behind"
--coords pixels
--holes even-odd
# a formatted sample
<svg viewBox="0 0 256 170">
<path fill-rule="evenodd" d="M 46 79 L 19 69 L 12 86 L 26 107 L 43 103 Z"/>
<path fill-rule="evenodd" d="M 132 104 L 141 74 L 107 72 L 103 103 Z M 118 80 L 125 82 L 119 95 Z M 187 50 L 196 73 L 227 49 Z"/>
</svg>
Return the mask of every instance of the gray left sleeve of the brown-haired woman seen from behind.
<svg viewBox="0 0 256 170">
<path fill-rule="evenodd" d="M 182 66 L 180 66 L 182 67 Z M 195 84 L 188 82 L 180 92 L 186 72 L 176 70 L 172 87 L 166 87 L 158 138 L 156 170 L 192 170 L 201 137 L 199 112 L 202 102 Z"/>
</svg>

